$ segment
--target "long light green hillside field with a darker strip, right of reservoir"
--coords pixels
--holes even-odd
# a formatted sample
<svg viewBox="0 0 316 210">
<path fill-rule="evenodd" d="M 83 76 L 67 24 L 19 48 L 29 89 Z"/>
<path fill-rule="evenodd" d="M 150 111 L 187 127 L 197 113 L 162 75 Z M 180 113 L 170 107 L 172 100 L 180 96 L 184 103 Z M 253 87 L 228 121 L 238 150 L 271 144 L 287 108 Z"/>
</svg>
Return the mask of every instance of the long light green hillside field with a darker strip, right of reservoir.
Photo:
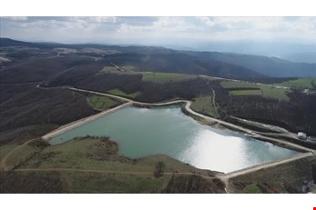
<svg viewBox="0 0 316 210">
<path fill-rule="evenodd" d="M 238 82 L 238 81 L 223 81 L 220 83 L 220 85 L 222 85 L 224 88 L 239 88 L 239 87 L 260 88 L 260 90 L 262 91 L 263 97 L 274 98 L 280 101 L 290 101 L 289 96 L 286 95 L 286 90 L 283 88 L 276 88 L 269 85 L 257 85 L 257 84 L 252 84 L 252 83 L 247 83 L 247 82 Z M 255 94 L 257 95 L 258 93 L 256 92 Z"/>
</svg>

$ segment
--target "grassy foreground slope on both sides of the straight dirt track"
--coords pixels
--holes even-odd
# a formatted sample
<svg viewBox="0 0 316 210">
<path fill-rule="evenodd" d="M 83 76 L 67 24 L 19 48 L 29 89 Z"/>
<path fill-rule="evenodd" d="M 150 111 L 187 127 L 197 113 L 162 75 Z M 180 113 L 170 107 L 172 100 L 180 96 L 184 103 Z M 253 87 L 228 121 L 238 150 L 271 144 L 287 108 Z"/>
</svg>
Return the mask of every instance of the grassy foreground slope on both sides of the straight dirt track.
<svg viewBox="0 0 316 210">
<path fill-rule="evenodd" d="M 37 144 L 38 145 L 38 144 Z M 40 144 L 39 144 L 40 145 Z M 39 151 L 35 144 L 27 145 Z M 40 150 L 19 168 L 73 168 L 108 170 L 94 171 L 23 171 L 1 175 L 1 193 L 161 193 L 178 192 L 178 185 L 188 185 L 195 177 L 174 183 L 172 174 L 155 177 L 153 171 L 158 161 L 166 165 L 165 172 L 196 172 L 201 175 L 214 175 L 208 170 L 200 170 L 186 165 L 167 155 L 151 155 L 140 159 L 129 159 L 117 155 L 117 144 L 105 139 L 76 139 L 62 145 L 49 145 Z M 16 154 L 16 156 L 19 156 Z M 114 171 L 114 172 L 113 172 Z M 143 173 L 143 174 L 128 174 Z M 190 177 L 190 175 L 186 175 Z M 34 182 L 36 178 L 36 182 Z M 199 178 L 203 179 L 203 178 Z M 204 180 L 204 179 L 203 179 Z M 203 181 L 209 185 L 201 190 L 205 193 L 224 193 L 218 187 L 218 180 Z M 38 185 L 40 183 L 40 185 Z M 188 188 L 188 187 L 187 187 Z M 183 189 L 188 190 L 188 189 Z M 199 193 L 199 188 L 190 188 L 191 193 Z M 178 192 L 181 193 L 181 192 Z"/>
</svg>

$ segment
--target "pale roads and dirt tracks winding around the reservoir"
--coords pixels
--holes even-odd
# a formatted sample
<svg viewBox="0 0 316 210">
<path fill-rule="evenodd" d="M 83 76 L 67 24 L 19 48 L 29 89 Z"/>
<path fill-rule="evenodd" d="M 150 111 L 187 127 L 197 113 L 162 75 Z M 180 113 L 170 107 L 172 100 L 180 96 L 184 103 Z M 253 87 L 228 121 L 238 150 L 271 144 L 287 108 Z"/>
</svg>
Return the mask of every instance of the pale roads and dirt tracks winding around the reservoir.
<svg viewBox="0 0 316 210">
<path fill-rule="evenodd" d="M 48 88 L 47 87 L 41 87 L 39 84 L 36 85 L 36 87 L 37 88 L 41 88 L 41 89 L 50 89 L 50 87 L 48 87 Z M 306 147 L 301 146 L 301 145 L 295 145 L 295 144 L 292 144 L 290 142 L 280 140 L 278 138 L 268 137 L 268 136 L 262 135 L 262 133 L 259 134 L 259 133 L 255 132 L 255 131 L 252 131 L 252 130 L 248 129 L 248 128 L 241 127 L 240 125 L 233 125 L 233 124 L 230 124 L 228 122 L 219 120 L 217 118 L 210 117 L 210 116 L 207 116 L 207 115 L 202 115 L 202 114 L 200 114 L 198 112 L 195 112 L 194 110 L 192 110 L 190 108 L 192 102 L 189 101 L 189 100 L 175 100 L 175 101 L 170 101 L 170 102 L 153 103 L 153 104 L 151 104 L 151 103 L 138 102 L 138 101 L 132 100 L 130 98 L 126 98 L 126 97 L 119 96 L 119 95 L 110 95 L 110 94 L 105 94 L 105 93 L 100 93 L 100 92 L 96 92 L 96 91 L 85 90 L 85 89 L 80 89 L 80 88 L 70 87 L 70 86 L 52 87 L 52 88 L 65 88 L 65 89 L 69 89 L 69 90 L 72 90 L 72 91 L 84 92 L 84 93 L 88 93 L 88 94 L 104 95 L 104 96 L 115 98 L 117 100 L 125 102 L 125 104 L 118 105 L 115 108 L 112 108 L 110 110 L 98 113 L 97 115 L 88 116 L 88 117 L 86 117 L 84 119 L 80 119 L 80 120 L 77 120 L 77 121 L 72 122 L 70 124 L 63 125 L 63 126 L 57 128 L 56 130 L 54 130 L 54 131 L 42 136 L 42 138 L 45 139 L 45 140 L 48 140 L 49 138 L 51 138 L 53 136 L 60 135 L 60 134 L 62 134 L 64 132 L 66 132 L 67 130 L 74 129 L 77 126 L 87 124 L 87 122 L 93 121 L 93 120 L 95 120 L 98 117 L 101 117 L 103 115 L 108 115 L 110 113 L 113 113 L 113 112 L 117 111 L 118 109 L 124 108 L 124 107 L 126 107 L 128 105 L 174 105 L 174 104 L 185 103 L 186 104 L 185 108 L 189 112 L 189 114 L 191 114 L 191 115 L 196 115 L 196 116 L 199 116 L 199 117 L 201 117 L 201 118 L 203 118 L 205 120 L 208 120 L 210 122 L 216 122 L 216 123 L 218 123 L 220 125 L 225 125 L 227 127 L 239 130 L 239 131 L 241 131 L 243 133 L 246 133 L 247 135 L 249 135 L 251 137 L 254 137 L 254 138 L 260 138 L 261 140 L 267 140 L 267 141 L 270 141 L 272 143 L 278 143 L 278 144 L 282 144 L 282 145 L 287 145 L 287 146 L 290 146 L 291 148 L 295 148 L 295 149 L 307 152 L 307 153 L 302 153 L 300 155 L 295 155 L 295 156 L 293 156 L 291 158 L 283 159 L 283 160 L 280 160 L 280 161 L 275 161 L 275 162 L 271 162 L 271 163 L 263 164 L 263 165 L 254 165 L 254 166 L 251 166 L 249 168 L 241 169 L 239 171 L 234 171 L 234 172 L 231 172 L 231 173 L 228 173 L 228 174 L 217 175 L 220 179 L 222 179 L 226 183 L 226 185 L 228 185 L 229 178 L 231 178 L 231 177 L 235 177 L 235 176 L 238 176 L 238 175 L 244 175 L 244 174 L 248 174 L 248 173 L 251 173 L 251 172 L 255 172 L 255 171 L 258 171 L 258 170 L 260 170 L 262 168 L 268 168 L 268 167 L 272 167 L 272 166 L 275 166 L 275 165 L 288 163 L 288 162 L 291 162 L 293 160 L 297 160 L 297 159 L 300 159 L 300 158 L 307 157 L 309 155 L 315 155 L 314 150 L 312 150 L 310 148 L 306 148 Z M 289 133 L 289 135 L 292 135 L 292 134 Z M 4 170 L 9 170 L 9 167 L 6 165 L 7 158 L 10 155 L 12 155 L 13 153 L 15 153 L 16 150 L 20 149 L 24 145 L 27 145 L 30 141 L 33 141 L 33 140 L 34 139 L 31 139 L 31 140 L 25 142 L 25 144 L 15 147 L 15 149 L 13 149 L 11 152 L 9 152 L 7 155 L 5 155 L 5 157 L 3 158 L 3 160 L 0 163 L 1 168 L 4 169 Z M 105 171 L 105 170 L 76 169 L 76 168 L 25 168 L 25 169 L 15 169 L 15 171 L 21 171 L 21 172 L 22 171 L 65 171 L 65 172 L 66 171 L 73 171 L 73 172 L 115 173 L 115 174 L 129 174 L 129 175 L 134 175 L 134 174 L 135 175 L 152 175 L 152 172 Z M 172 174 L 178 174 L 178 175 L 193 175 L 194 174 L 194 175 L 198 175 L 198 174 L 195 174 L 195 173 L 165 173 L 165 174 L 166 175 L 172 175 Z M 211 177 L 206 176 L 206 175 L 200 175 L 200 176 L 202 176 L 203 178 L 211 178 Z"/>
</svg>

